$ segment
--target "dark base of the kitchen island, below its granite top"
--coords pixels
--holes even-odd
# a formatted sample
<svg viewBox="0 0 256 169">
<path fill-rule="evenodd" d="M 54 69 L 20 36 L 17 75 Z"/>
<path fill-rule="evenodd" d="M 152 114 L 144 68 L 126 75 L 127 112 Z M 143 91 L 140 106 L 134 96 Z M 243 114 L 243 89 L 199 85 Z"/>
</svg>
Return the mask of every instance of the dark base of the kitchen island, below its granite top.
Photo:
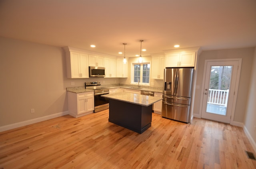
<svg viewBox="0 0 256 169">
<path fill-rule="evenodd" d="M 142 106 L 109 99 L 108 121 L 142 134 L 151 126 L 152 104 L 149 106 Z"/>
</svg>

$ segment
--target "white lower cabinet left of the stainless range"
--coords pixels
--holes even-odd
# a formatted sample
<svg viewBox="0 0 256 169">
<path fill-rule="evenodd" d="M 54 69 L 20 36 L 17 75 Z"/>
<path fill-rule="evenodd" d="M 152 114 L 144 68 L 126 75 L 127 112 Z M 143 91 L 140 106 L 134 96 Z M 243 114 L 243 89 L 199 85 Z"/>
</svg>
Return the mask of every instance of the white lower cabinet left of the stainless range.
<svg viewBox="0 0 256 169">
<path fill-rule="evenodd" d="M 68 92 L 68 111 L 73 117 L 81 117 L 93 113 L 94 92 Z"/>
</svg>

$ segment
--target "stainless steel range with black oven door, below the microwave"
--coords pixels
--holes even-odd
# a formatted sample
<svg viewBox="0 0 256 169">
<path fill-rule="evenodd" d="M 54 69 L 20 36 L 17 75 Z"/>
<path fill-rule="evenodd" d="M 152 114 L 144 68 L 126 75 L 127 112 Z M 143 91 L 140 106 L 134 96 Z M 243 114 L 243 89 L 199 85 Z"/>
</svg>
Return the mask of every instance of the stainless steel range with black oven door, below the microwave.
<svg viewBox="0 0 256 169">
<path fill-rule="evenodd" d="M 101 97 L 109 94 L 109 88 L 102 88 L 100 82 L 86 82 L 85 88 L 94 90 L 94 113 L 109 108 L 108 98 Z"/>
</svg>

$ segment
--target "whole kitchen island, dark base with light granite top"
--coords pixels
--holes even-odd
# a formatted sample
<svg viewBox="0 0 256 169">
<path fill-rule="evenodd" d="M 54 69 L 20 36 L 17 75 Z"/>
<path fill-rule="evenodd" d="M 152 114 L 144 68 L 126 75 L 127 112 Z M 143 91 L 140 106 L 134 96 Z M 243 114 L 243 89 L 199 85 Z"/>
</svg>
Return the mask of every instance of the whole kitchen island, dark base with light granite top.
<svg viewBox="0 0 256 169">
<path fill-rule="evenodd" d="M 154 96 L 119 92 L 104 94 L 109 99 L 108 121 L 142 134 L 151 126 L 152 104 L 162 100 Z"/>
</svg>

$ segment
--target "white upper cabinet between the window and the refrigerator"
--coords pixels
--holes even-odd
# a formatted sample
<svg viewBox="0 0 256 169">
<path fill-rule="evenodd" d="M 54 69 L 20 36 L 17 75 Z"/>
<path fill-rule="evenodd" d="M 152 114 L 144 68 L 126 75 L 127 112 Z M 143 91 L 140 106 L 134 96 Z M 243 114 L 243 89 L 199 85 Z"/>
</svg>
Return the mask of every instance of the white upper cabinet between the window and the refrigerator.
<svg viewBox="0 0 256 169">
<path fill-rule="evenodd" d="M 165 57 L 152 57 L 151 78 L 164 79 Z"/>
</svg>

